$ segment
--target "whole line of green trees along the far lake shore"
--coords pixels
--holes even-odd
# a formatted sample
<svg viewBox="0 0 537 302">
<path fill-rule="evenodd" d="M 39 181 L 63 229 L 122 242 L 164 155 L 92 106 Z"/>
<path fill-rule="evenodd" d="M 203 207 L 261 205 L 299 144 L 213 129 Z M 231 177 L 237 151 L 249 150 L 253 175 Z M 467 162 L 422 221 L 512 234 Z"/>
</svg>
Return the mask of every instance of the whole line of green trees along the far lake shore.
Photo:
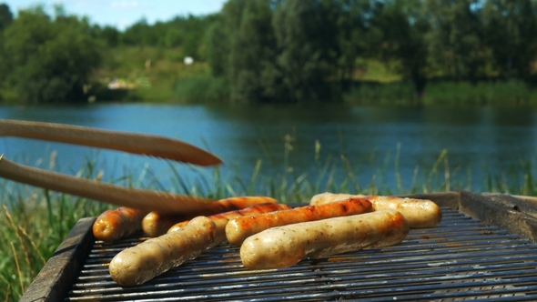
<svg viewBox="0 0 537 302">
<path fill-rule="evenodd" d="M 417 96 L 438 79 L 533 85 L 536 8 L 537 0 L 228 0 L 218 14 L 119 31 L 61 7 L 54 17 L 37 7 L 13 19 L 0 5 L 0 84 L 28 102 L 84 100 L 102 49 L 152 46 L 206 62 L 237 103 L 338 101 L 368 59 Z"/>
</svg>

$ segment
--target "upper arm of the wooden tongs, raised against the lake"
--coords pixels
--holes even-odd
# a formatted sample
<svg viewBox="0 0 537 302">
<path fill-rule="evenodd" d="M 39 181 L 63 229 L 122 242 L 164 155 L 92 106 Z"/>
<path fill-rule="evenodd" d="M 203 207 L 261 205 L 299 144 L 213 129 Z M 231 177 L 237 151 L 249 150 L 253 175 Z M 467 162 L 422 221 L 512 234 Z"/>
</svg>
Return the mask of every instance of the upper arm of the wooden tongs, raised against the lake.
<svg viewBox="0 0 537 302">
<path fill-rule="evenodd" d="M 0 120 L 0 136 L 35 138 L 59 143 L 94 146 L 128 153 L 156 156 L 198 166 L 222 161 L 207 151 L 164 136 L 150 136 L 84 126 Z"/>
</svg>

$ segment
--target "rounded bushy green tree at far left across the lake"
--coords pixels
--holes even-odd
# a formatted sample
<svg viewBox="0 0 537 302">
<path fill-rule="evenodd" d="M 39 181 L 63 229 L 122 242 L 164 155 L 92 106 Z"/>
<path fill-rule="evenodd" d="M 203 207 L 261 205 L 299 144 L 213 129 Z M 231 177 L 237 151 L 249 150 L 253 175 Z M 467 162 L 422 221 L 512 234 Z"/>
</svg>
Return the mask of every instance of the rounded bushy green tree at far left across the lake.
<svg viewBox="0 0 537 302">
<path fill-rule="evenodd" d="M 100 64 L 102 47 L 87 20 L 42 8 L 20 11 L 5 29 L 8 82 L 27 103 L 86 101 L 84 86 Z"/>
</svg>

